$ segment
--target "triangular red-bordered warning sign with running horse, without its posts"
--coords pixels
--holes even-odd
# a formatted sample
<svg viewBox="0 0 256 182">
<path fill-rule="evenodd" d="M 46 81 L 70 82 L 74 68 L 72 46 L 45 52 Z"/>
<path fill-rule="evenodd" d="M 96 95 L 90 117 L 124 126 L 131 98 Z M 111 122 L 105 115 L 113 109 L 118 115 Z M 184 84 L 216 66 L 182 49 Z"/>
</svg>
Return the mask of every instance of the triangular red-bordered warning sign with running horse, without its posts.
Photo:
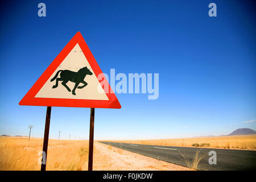
<svg viewBox="0 0 256 182">
<path fill-rule="evenodd" d="M 102 88 L 99 75 L 109 92 Z M 121 108 L 80 32 L 52 61 L 19 105 Z"/>
</svg>

